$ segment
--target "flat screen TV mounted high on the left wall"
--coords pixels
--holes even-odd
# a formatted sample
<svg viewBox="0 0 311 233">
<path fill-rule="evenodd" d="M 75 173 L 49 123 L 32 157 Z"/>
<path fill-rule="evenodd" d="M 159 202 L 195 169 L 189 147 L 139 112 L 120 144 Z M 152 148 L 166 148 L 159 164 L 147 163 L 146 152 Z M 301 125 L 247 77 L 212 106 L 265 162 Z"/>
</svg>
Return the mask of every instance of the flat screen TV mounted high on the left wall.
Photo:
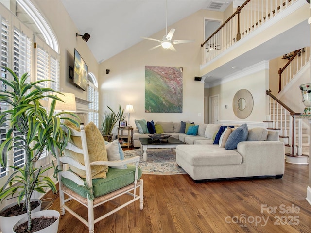
<svg viewBox="0 0 311 233">
<path fill-rule="evenodd" d="M 74 49 L 73 84 L 86 91 L 87 87 L 87 65 L 79 52 Z"/>
</svg>

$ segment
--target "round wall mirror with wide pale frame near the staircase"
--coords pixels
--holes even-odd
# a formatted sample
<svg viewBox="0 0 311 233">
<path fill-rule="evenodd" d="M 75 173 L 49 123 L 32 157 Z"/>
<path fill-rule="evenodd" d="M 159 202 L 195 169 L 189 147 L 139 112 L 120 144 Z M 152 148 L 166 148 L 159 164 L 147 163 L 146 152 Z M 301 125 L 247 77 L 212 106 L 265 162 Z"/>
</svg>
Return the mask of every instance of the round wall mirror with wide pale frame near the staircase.
<svg viewBox="0 0 311 233">
<path fill-rule="evenodd" d="M 241 89 L 235 93 L 232 101 L 235 116 L 245 119 L 252 113 L 253 105 L 253 96 L 248 90 Z"/>
</svg>

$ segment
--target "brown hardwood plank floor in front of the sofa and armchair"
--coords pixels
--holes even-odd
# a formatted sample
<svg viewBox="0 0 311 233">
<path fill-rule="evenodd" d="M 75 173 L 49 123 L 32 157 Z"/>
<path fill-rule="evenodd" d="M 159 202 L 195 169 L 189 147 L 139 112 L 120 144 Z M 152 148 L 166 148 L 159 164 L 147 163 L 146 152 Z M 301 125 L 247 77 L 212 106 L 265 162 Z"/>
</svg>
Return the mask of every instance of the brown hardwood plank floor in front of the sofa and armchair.
<svg viewBox="0 0 311 233">
<path fill-rule="evenodd" d="M 285 163 L 282 179 L 204 183 L 194 183 L 187 174 L 143 174 L 144 209 L 135 202 L 95 224 L 95 233 L 310 233 L 308 167 Z M 50 209 L 59 211 L 58 194 L 45 197 L 52 197 Z M 114 201 L 98 207 L 95 216 L 116 205 Z M 86 216 L 85 207 L 76 209 Z M 61 217 L 58 233 L 86 232 L 68 212 Z"/>
</svg>

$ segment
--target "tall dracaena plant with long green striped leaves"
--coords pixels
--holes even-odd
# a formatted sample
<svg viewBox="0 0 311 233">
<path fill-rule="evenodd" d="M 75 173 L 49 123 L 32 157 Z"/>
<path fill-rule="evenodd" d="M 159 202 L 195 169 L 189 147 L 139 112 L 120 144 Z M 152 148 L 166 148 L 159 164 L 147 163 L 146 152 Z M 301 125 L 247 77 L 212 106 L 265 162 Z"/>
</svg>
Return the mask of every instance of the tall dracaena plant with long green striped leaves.
<svg viewBox="0 0 311 233">
<path fill-rule="evenodd" d="M 8 110 L 0 109 L 0 126 L 7 127 L 6 138 L 0 145 L 0 162 L 7 166 L 7 156 L 10 150 L 23 150 L 25 154 L 24 166 L 9 166 L 12 170 L 7 182 L 0 188 L 0 200 L 9 196 L 17 197 L 18 203 L 25 199 L 23 208 L 26 208 L 28 216 L 28 230 L 31 229 L 31 205 L 30 198 L 33 191 L 45 193 L 45 188 L 56 191 L 56 186 L 50 177 L 44 173 L 53 166 L 42 169 L 36 167 L 35 162 L 40 159 L 45 151 L 56 157 L 57 153 L 64 150 L 70 137 L 68 127 L 62 123 L 67 119 L 79 125 L 76 120 L 65 117 L 75 116 L 73 113 L 54 113 L 56 101 L 62 101 L 60 92 L 57 97 L 52 94 L 51 88 L 41 88 L 39 84 L 52 82 L 40 80 L 28 82 L 29 75 L 23 74 L 20 78 L 9 68 L 1 67 L 2 74 L 11 74 L 13 79 L 0 77 L 0 83 L 7 88 L 0 90 L 0 103 L 6 103 Z M 44 85 L 43 85 L 44 86 Z M 51 98 L 50 111 L 41 104 L 45 98 Z"/>
</svg>

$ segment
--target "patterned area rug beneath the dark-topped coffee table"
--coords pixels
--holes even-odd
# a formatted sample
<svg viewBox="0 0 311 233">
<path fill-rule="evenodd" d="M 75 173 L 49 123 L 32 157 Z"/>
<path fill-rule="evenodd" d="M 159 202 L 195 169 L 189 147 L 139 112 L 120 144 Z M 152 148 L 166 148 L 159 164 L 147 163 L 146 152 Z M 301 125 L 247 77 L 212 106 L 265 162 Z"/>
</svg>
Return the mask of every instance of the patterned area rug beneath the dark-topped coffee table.
<svg viewBox="0 0 311 233">
<path fill-rule="evenodd" d="M 139 167 L 143 174 L 154 175 L 175 175 L 186 174 L 186 172 L 176 164 L 175 150 L 171 152 L 167 149 L 148 149 L 147 161 L 143 161 L 143 153 L 140 149 L 125 150 L 124 157 L 130 158 L 140 156 Z"/>
</svg>

